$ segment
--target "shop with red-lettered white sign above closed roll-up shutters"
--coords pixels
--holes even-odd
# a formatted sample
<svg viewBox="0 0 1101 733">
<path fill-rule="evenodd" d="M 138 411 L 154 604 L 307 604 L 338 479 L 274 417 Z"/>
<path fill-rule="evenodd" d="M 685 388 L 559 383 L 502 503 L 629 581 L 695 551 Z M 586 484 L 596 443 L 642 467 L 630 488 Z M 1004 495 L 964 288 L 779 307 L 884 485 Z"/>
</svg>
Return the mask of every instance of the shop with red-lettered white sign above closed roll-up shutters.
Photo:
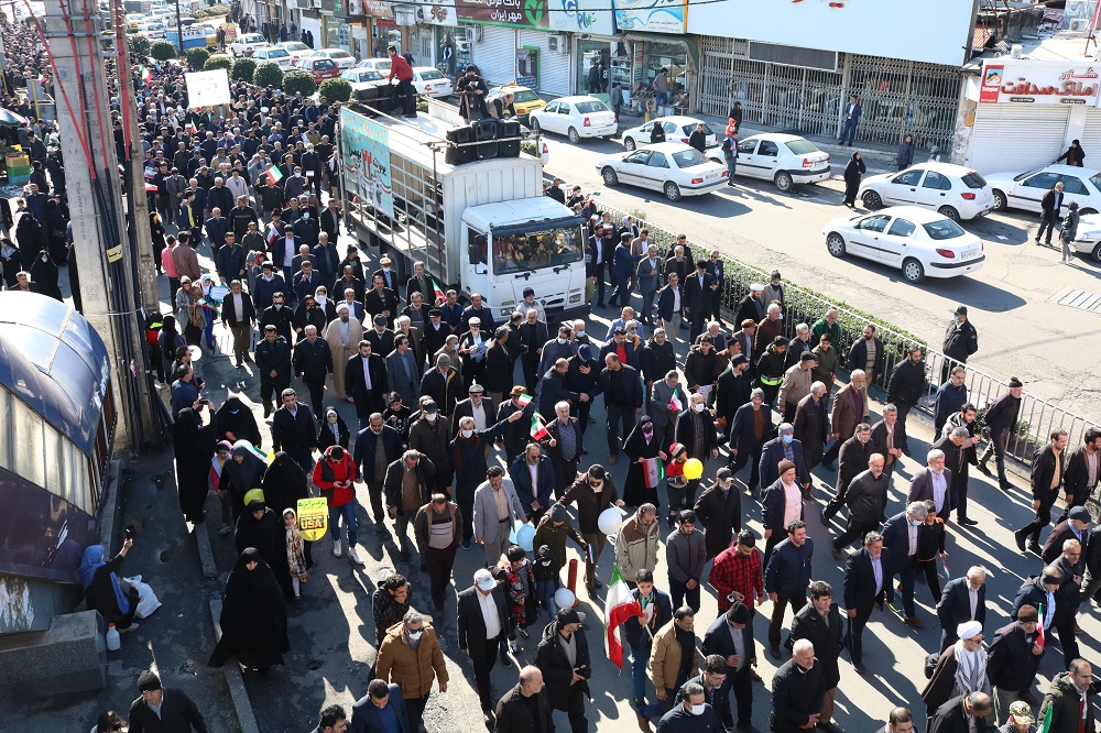
<svg viewBox="0 0 1101 733">
<path fill-rule="evenodd" d="M 1101 150 L 1099 78 L 1068 62 L 986 59 L 969 78 L 953 160 L 979 173 L 1027 171 L 1059 157 L 1072 140 Z M 1088 160 L 1088 158 L 1087 158 Z"/>
</svg>

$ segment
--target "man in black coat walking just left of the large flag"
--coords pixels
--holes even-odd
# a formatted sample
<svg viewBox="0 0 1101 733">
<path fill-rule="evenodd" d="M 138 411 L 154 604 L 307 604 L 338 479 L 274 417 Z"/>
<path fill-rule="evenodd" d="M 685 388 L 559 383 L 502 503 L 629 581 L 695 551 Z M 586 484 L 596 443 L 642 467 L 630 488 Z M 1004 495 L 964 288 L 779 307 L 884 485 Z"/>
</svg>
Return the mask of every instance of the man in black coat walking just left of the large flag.
<svg viewBox="0 0 1101 733">
<path fill-rule="evenodd" d="M 569 715 L 574 733 L 589 730 L 585 700 L 589 697 L 589 643 L 581 631 L 581 619 L 574 609 L 559 609 L 555 620 L 543 631 L 535 649 L 535 666 L 546 680 L 547 702 L 552 710 Z"/>
</svg>

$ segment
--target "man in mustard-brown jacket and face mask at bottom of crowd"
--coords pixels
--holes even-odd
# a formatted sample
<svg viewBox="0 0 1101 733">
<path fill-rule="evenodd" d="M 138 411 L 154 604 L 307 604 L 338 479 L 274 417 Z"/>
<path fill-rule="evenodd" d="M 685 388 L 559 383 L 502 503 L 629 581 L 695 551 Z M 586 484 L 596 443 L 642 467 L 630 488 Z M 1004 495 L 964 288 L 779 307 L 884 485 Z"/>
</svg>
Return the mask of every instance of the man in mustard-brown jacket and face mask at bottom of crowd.
<svg viewBox="0 0 1101 733">
<path fill-rule="evenodd" d="M 407 730 L 419 731 L 433 680 L 438 680 L 439 692 L 444 693 L 448 676 L 436 630 L 417 611 L 410 609 L 400 624 L 386 631 L 379 646 L 374 675 L 402 689 Z"/>
</svg>

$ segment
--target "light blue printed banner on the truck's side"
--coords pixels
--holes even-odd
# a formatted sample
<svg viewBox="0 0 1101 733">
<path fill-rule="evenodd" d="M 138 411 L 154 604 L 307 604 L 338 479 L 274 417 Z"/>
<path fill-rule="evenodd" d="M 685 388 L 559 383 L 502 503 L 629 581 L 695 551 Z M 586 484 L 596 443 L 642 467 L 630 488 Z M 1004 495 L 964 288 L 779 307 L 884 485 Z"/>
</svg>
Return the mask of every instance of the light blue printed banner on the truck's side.
<svg viewBox="0 0 1101 733">
<path fill-rule="evenodd" d="M 345 187 L 375 211 L 394 217 L 394 189 L 390 182 L 390 132 L 348 108 L 340 109 L 340 144 Z"/>
</svg>

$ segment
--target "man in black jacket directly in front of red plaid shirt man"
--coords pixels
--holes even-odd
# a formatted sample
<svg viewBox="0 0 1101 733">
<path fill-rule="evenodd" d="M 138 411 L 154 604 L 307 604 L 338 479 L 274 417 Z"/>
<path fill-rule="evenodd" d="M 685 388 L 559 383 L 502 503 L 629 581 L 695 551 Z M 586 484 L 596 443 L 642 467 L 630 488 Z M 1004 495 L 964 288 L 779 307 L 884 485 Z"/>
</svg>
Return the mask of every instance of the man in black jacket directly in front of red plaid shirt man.
<svg viewBox="0 0 1101 733">
<path fill-rule="evenodd" d="M 756 666 L 756 645 L 753 643 L 753 614 L 741 601 L 731 605 L 716 619 L 704 634 L 701 648 L 708 658 L 719 655 L 727 661 L 727 687 L 738 703 L 738 729 L 745 730 L 753 722 L 753 667 Z M 711 703 L 727 729 L 730 723 L 730 702 L 723 698 L 718 705 Z"/>
</svg>

